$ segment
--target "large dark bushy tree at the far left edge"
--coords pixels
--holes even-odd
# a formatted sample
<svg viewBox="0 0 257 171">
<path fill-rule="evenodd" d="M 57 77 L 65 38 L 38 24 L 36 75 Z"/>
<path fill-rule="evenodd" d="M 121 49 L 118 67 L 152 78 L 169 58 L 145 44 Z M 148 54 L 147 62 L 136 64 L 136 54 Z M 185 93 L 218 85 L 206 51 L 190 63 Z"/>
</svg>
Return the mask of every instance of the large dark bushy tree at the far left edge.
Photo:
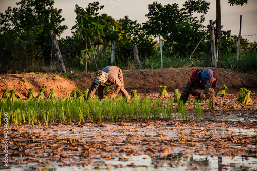
<svg viewBox="0 0 257 171">
<path fill-rule="evenodd" d="M 53 0 L 22 0 L 16 4 L 19 7 L 8 7 L 4 14 L 0 13 L 1 39 L 12 40 L 1 44 L 1 64 L 8 59 L 7 70 L 11 72 L 28 70 L 28 65 L 39 60 L 48 64 L 52 46 L 49 30 L 59 36 L 67 29 L 61 25 L 62 10 L 53 7 Z M 14 51 L 6 52 L 10 49 Z M 20 67 L 16 67 L 17 62 L 21 62 Z"/>
</svg>

